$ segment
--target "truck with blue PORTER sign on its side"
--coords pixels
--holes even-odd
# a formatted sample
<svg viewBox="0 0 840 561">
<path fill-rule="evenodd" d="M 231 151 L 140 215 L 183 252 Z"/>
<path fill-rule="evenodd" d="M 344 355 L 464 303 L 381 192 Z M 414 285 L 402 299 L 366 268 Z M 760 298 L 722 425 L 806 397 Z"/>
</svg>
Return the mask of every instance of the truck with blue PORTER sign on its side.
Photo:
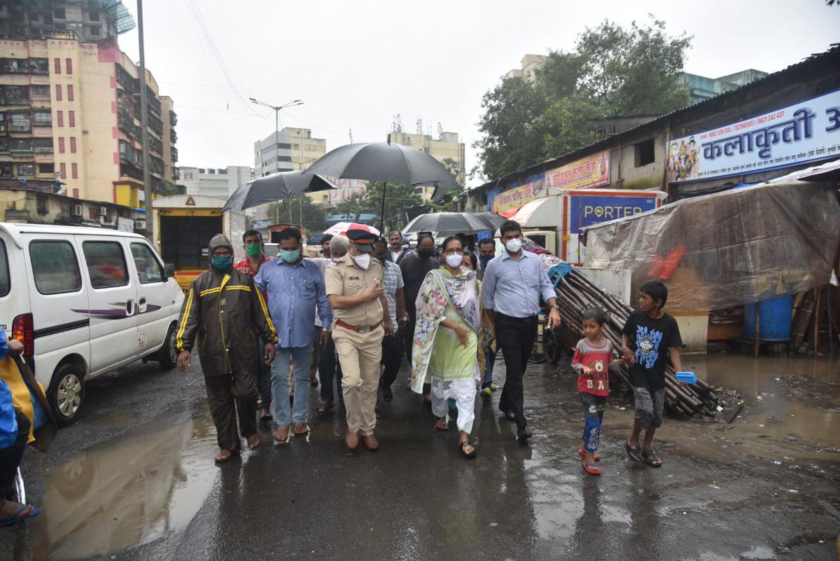
<svg viewBox="0 0 840 561">
<path fill-rule="evenodd" d="M 568 263 L 580 265 L 584 261 L 584 247 L 578 240 L 580 228 L 654 210 L 662 206 L 666 196 L 663 191 L 570 189 L 526 203 L 512 220 L 536 244 Z"/>
</svg>

